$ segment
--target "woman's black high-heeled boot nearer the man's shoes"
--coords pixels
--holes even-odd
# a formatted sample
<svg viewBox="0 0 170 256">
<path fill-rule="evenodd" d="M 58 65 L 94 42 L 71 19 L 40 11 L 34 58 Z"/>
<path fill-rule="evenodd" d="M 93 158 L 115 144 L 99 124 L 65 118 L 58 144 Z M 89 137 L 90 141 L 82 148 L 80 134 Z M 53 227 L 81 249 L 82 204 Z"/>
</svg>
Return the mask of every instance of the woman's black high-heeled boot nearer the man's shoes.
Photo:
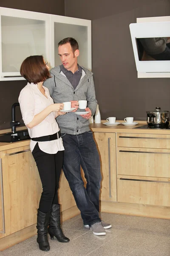
<svg viewBox="0 0 170 256">
<path fill-rule="evenodd" d="M 70 239 L 65 237 L 65 235 L 62 233 L 62 229 L 60 226 L 60 205 L 59 204 L 52 205 L 48 233 L 51 239 L 54 239 L 54 236 L 55 236 L 59 242 L 68 243 L 70 241 Z"/>
</svg>

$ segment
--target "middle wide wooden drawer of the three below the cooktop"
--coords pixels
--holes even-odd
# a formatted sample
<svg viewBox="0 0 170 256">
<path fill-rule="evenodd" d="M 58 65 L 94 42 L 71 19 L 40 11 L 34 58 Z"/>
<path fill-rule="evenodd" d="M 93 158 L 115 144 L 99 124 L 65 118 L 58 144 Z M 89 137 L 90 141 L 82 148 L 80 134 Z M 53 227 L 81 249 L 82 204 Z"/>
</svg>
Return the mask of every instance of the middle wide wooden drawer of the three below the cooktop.
<svg viewBox="0 0 170 256">
<path fill-rule="evenodd" d="M 170 150 L 117 148 L 117 174 L 170 177 Z"/>
</svg>

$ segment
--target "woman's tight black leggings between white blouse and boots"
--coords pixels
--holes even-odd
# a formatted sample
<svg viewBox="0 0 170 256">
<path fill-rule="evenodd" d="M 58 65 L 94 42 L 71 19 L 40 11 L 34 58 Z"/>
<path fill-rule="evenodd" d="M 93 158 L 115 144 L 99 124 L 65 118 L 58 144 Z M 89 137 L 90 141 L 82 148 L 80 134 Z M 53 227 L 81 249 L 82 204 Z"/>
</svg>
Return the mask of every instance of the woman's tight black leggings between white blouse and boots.
<svg viewBox="0 0 170 256">
<path fill-rule="evenodd" d="M 57 154 L 47 154 L 35 145 L 32 155 L 37 164 L 38 172 L 42 182 L 42 194 L 39 210 L 47 213 L 51 210 L 52 204 L 58 204 L 59 178 L 63 163 L 63 151 Z"/>
</svg>

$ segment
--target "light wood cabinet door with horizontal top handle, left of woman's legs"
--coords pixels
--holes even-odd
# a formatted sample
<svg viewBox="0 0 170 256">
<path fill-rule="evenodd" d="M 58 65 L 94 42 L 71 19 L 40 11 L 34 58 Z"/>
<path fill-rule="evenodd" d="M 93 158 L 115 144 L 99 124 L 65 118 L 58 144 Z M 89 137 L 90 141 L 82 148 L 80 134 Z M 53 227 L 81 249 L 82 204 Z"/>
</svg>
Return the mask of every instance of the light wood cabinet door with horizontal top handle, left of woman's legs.
<svg viewBox="0 0 170 256">
<path fill-rule="evenodd" d="M 6 236 L 37 222 L 42 185 L 29 146 L 2 152 Z"/>
</svg>

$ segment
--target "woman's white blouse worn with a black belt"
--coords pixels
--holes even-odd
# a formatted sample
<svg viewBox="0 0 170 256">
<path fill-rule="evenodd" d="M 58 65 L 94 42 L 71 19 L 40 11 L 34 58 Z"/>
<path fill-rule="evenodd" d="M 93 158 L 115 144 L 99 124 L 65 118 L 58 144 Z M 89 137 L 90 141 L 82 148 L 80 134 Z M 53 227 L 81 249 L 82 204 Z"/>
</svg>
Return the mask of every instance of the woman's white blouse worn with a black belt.
<svg viewBox="0 0 170 256">
<path fill-rule="evenodd" d="M 47 98 L 40 92 L 37 84 L 34 83 L 28 83 L 20 92 L 18 101 L 20 103 L 20 109 L 25 125 L 28 125 L 34 119 L 35 115 L 54 103 L 48 88 L 44 86 L 43 88 Z M 29 136 L 35 138 L 55 134 L 59 131 L 55 113 L 56 112 L 51 112 L 39 125 L 36 125 L 31 129 L 28 128 Z M 30 141 L 31 152 L 36 143 L 36 141 Z M 38 142 L 38 145 L 42 151 L 48 154 L 56 154 L 58 151 L 64 150 L 61 137 L 58 140 Z"/>
</svg>

